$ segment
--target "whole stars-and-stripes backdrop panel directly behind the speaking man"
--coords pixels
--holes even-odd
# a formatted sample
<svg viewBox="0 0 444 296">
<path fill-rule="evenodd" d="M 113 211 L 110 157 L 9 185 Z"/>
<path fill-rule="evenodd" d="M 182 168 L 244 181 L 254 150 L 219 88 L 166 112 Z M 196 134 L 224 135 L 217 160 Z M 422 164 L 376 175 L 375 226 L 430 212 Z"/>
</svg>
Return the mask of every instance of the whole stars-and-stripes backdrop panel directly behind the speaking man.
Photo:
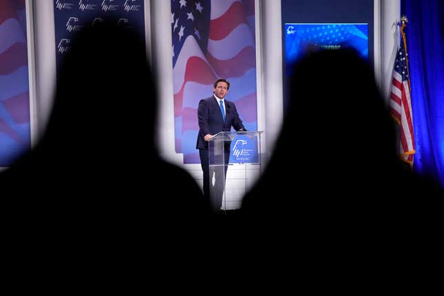
<svg viewBox="0 0 444 296">
<path fill-rule="evenodd" d="M 226 78 L 226 99 L 246 129 L 257 130 L 255 1 L 171 0 L 176 153 L 199 163 L 198 103 Z"/>
</svg>

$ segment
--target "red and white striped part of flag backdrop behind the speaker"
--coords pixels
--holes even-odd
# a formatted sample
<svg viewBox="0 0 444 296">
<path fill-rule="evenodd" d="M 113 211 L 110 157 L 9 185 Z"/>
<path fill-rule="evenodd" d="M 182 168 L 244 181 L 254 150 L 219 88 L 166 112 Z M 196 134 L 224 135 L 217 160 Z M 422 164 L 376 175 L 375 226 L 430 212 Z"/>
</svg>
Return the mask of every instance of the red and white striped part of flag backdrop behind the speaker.
<svg viewBox="0 0 444 296">
<path fill-rule="evenodd" d="M 211 96 L 213 83 L 218 78 L 231 82 L 227 98 L 234 98 L 244 120 L 256 120 L 255 111 L 254 116 L 251 114 L 256 104 L 255 83 L 254 89 L 250 87 L 252 83 L 245 83 L 251 81 L 252 75 L 255 77 L 252 19 L 254 0 L 211 0 L 207 54 L 200 50 L 194 36 L 189 35 L 185 40 L 173 68 L 174 113 L 176 120 L 182 120 L 182 133 L 198 131 L 198 101 Z M 234 89 L 248 91 L 234 94 Z"/>
</svg>

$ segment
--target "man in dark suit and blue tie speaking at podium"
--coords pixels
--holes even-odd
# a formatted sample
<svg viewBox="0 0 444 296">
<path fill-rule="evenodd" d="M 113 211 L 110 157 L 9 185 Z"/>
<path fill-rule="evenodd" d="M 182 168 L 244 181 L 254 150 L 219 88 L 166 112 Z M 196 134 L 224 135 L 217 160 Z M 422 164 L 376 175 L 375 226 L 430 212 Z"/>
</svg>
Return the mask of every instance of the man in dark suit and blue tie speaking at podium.
<svg viewBox="0 0 444 296">
<path fill-rule="evenodd" d="M 224 98 L 230 88 L 230 83 L 225 79 L 218 79 L 213 85 L 213 96 L 200 100 L 198 107 L 199 134 L 196 149 L 199 149 L 200 165 L 204 172 L 204 196 L 210 198 L 210 171 L 209 171 L 209 140 L 220 131 L 231 131 L 233 127 L 236 131 L 246 131 L 242 120 L 237 114 L 236 106 L 233 102 Z M 230 159 L 230 147 L 224 147 L 224 173 Z M 215 172 L 215 185 L 211 202 L 213 209 L 220 210 L 222 205 L 222 193 L 224 184 L 222 176 L 218 170 Z M 211 172 L 213 175 L 213 172 Z M 222 182 L 222 183 L 221 183 Z"/>
</svg>

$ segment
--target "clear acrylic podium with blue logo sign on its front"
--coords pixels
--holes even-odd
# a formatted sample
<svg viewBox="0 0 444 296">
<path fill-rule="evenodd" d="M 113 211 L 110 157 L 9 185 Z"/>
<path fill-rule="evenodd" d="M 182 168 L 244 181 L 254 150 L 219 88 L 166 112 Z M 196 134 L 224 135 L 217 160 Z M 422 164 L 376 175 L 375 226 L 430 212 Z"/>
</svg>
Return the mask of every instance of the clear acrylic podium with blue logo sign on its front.
<svg viewBox="0 0 444 296">
<path fill-rule="evenodd" d="M 242 187 L 244 191 L 252 184 L 248 172 L 255 171 L 257 176 L 262 173 L 262 133 L 263 131 L 221 131 L 209 140 L 210 200 L 214 211 L 233 209 L 230 205 L 233 195 L 238 195 L 235 208 L 239 208 L 246 193 L 236 191 L 236 188 L 228 190 L 226 173 L 229 168 L 240 172 L 237 173 L 237 186 L 233 184 L 232 187 Z M 242 195 L 241 199 L 239 195 Z"/>
</svg>

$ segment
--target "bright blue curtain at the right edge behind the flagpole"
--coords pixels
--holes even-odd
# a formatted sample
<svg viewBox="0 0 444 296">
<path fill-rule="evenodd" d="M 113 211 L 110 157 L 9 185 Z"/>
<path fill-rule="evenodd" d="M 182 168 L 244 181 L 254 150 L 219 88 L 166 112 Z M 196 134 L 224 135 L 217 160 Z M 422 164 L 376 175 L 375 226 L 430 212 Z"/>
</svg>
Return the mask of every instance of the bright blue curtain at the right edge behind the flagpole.
<svg viewBox="0 0 444 296">
<path fill-rule="evenodd" d="M 444 186 L 444 1 L 401 0 L 416 154 L 414 170 Z"/>
</svg>

